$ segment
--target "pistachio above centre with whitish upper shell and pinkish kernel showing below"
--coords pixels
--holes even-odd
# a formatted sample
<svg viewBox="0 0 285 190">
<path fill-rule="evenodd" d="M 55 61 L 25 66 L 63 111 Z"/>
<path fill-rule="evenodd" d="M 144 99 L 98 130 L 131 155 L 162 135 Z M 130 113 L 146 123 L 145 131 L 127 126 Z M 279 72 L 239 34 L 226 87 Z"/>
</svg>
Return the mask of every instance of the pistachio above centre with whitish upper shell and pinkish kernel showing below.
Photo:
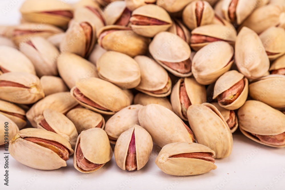
<svg viewBox="0 0 285 190">
<path fill-rule="evenodd" d="M 191 49 L 179 36 L 170 32 L 158 33 L 149 44 L 149 52 L 158 64 L 175 76 L 192 75 Z"/>
</svg>

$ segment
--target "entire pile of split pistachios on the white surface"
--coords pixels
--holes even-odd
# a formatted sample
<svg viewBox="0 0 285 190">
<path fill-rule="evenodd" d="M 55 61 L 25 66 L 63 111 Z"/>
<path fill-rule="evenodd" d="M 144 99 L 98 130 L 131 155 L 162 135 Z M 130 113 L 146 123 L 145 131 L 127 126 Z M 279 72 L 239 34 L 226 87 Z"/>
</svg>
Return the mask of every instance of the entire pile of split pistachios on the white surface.
<svg viewBox="0 0 285 190">
<path fill-rule="evenodd" d="M 216 169 L 285 147 L 284 0 L 26 0 L 0 26 L 0 145 L 26 166 Z M 5 127 L 4 127 L 5 124 Z M 113 144 L 111 146 L 111 144 Z M 156 146 L 155 145 L 155 146 Z"/>
</svg>

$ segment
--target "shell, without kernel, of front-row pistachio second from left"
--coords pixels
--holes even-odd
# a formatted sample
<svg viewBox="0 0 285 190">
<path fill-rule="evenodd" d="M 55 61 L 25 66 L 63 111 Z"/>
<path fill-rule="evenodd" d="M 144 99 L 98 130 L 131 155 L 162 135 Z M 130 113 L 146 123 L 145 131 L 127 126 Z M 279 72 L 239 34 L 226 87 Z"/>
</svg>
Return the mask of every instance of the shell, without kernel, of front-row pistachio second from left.
<svg viewBox="0 0 285 190">
<path fill-rule="evenodd" d="M 76 163 L 76 150 L 79 143 L 84 158 L 89 160 L 89 162 L 103 165 L 91 171 L 85 171 L 78 167 Z M 103 167 L 107 162 L 109 162 L 109 160 L 111 160 L 112 156 L 113 151 L 106 132 L 101 128 L 91 128 L 82 131 L 77 138 L 73 156 L 73 165 L 75 169 L 82 173 L 91 173 Z"/>
</svg>

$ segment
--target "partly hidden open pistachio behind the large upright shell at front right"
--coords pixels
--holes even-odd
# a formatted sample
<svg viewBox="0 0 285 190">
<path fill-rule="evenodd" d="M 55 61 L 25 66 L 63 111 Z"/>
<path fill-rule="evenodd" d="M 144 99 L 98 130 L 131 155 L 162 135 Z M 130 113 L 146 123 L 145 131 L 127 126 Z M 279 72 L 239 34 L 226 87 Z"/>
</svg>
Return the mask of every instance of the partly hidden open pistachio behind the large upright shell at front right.
<svg viewBox="0 0 285 190">
<path fill-rule="evenodd" d="M 211 104 L 213 104 L 219 110 L 219 112 L 227 122 L 231 130 L 231 133 L 235 132 L 237 130 L 237 127 L 239 126 L 239 122 L 237 121 L 237 115 L 235 114 L 235 111 L 225 109 L 221 107 L 217 102 L 212 102 Z"/>
</svg>

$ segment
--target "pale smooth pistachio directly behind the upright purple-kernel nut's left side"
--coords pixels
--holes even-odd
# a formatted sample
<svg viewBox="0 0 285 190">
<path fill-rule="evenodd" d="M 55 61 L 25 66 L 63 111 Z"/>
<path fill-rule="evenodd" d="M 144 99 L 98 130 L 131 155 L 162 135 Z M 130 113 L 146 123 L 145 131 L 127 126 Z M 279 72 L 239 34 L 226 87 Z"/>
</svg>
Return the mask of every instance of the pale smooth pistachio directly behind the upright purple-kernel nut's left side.
<svg viewBox="0 0 285 190">
<path fill-rule="evenodd" d="M 115 139 L 119 138 L 122 132 L 133 127 L 135 124 L 139 125 L 138 113 L 142 105 L 130 105 L 115 113 L 107 122 L 105 131 L 108 136 L 112 137 L 110 142 L 116 144 Z"/>
</svg>

